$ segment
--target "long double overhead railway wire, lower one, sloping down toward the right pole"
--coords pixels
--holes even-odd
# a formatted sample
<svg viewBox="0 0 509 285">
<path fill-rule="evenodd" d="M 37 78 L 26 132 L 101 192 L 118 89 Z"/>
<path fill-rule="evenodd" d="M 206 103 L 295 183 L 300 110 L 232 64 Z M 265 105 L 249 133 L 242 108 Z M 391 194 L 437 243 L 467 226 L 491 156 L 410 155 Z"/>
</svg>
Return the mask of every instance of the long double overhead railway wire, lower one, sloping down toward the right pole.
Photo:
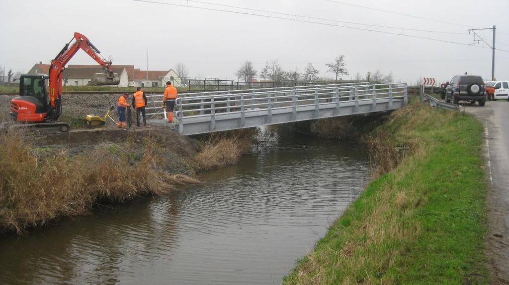
<svg viewBox="0 0 509 285">
<path fill-rule="evenodd" d="M 244 11 L 242 11 L 242 12 L 240 12 L 240 11 L 231 11 L 231 10 L 224 10 L 224 9 L 217 9 L 217 8 L 192 6 L 192 5 L 189 5 L 189 4 L 182 5 L 182 4 L 175 4 L 175 3 L 159 2 L 159 1 L 154 1 L 154 0 L 132 0 L 132 1 L 140 2 L 140 3 L 150 3 L 150 4 L 159 4 L 159 5 L 168 5 L 168 6 L 175 6 L 175 7 L 183 7 L 183 8 L 194 8 L 194 9 L 216 11 L 216 12 L 226 12 L 226 13 L 239 14 L 239 15 L 258 16 L 258 17 L 264 17 L 264 18 L 280 19 L 280 20 L 287 20 L 287 21 L 296 21 L 296 22 L 301 22 L 301 23 L 319 24 L 319 25 L 326 25 L 326 26 L 333 26 L 333 27 L 342 27 L 342 28 L 355 29 L 355 30 L 363 30 L 363 31 L 372 31 L 372 32 L 378 32 L 378 33 L 384 33 L 384 34 L 400 35 L 402 37 L 422 39 L 422 40 L 431 40 L 431 41 L 442 42 L 442 43 L 458 44 L 458 45 L 463 45 L 463 46 L 472 46 L 471 44 L 467 44 L 467 43 L 460 43 L 460 42 L 436 39 L 436 38 L 431 38 L 431 37 L 421 37 L 421 36 L 418 36 L 418 35 L 411 35 L 411 34 L 398 33 L 398 32 L 382 31 L 382 30 L 373 29 L 373 27 L 372 28 L 361 28 L 361 27 L 346 26 L 346 25 L 343 25 L 343 24 L 339 24 L 340 21 L 335 21 L 335 20 L 333 20 L 333 23 L 323 23 L 323 22 L 316 22 L 316 21 L 311 21 L 311 20 L 303 20 L 303 19 L 299 19 L 299 18 L 313 18 L 313 17 L 294 15 L 294 14 L 290 14 L 290 13 L 280 13 L 280 12 L 264 11 L 265 13 L 280 14 L 280 15 L 291 15 L 291 16 L 293 16 L 293 18 L 286 18 L 286 17 L 280 17 L 280 16 L 270 16 L 270 15 L 264 15 L 264 14 L 257 14 L 257 13 L 253 13 L 251 11 L 254 11 L 254 12 L 261 12 L 261 11 L 260 10 L 255 11 L 254 9 L 250 9 L 250 8 L 241 8 L 241 7 L 234 7 L 234 6 L 231 6 L 230 8 L 243 9 Z M 192 0 L 189 0 L 187 2 L 209 4 L 209 3 L 206 3 L 206 2 L 199 2 L 199 1 L 192 1 Z M 213 4 L 213 3 L 210 3 L 210 5 L 228 7 L 228 5 L 220 5 L 220 4 Z M 297 18 L 297 17 L 299 17 L 299 18 Z M 484 46 L 472 46 L 472 47 L 488 48 L 488 47 L 484 47 Z M 501 50 L 501 49 L 497 49 L 497 50 L 504 51 L 504 52 L 509 52 L 509 50 Z"/>
</svg>

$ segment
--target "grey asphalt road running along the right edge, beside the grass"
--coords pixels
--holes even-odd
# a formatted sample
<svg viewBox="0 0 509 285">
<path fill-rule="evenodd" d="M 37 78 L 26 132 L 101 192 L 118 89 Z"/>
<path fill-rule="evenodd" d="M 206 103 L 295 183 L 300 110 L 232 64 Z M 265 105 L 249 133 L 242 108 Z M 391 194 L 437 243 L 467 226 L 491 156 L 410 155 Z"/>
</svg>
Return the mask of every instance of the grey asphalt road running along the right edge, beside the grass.
<svg viewBox="0 0 509 285">
<path fill-rule="evenodd" d="M 490 257 L 498 283 L 509 284 L 509 102 L 465 105 L 465 111 L 485 125 L 486 166 L 492 186 L 488 197 Z"/>
</svg>

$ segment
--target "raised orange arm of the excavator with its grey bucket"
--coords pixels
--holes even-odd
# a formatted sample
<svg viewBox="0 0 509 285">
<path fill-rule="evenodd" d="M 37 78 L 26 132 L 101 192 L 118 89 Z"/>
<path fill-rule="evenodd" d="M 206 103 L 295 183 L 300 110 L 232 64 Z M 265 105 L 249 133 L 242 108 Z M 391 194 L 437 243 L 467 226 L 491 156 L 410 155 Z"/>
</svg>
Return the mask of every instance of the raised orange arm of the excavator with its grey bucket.
<svg viewBox="0 0 509 285">
<path fill-rule="evenodd" d="M 74 43 L 72 43 L 73 41 Z M 102 76 L 93 78 L 92 85 L 118 85 L 120 83 L 119 78 L 113 73 L 111 61 L 106 60 L 87 37 L 79 32 L 75 32 L 71 41 L 51 60 L 49 68 L 48 91 L 49 104 L 52 110 L 51 114 L 48 115 L 55 119 L 62 113 L 61 96 L 64 68 L 79 49 L 82 49 L 103 67 Z"/>
</svg>

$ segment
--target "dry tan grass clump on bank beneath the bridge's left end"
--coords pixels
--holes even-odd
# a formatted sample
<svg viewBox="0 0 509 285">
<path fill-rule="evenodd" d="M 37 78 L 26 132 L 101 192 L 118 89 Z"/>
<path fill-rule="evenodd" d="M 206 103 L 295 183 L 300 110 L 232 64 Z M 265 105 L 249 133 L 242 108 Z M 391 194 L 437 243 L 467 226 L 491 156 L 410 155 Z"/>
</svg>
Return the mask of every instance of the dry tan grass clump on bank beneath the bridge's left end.
<svg viewBox="0 0 509 285">
<path fill-rule="evenodd" d="M 257 133 L 257 129 L 241 129 L 212 134 L 196 155 L 196 164 L 200 170 L 210 170 L 237 163 L 251 149 Z"/>
</svg>

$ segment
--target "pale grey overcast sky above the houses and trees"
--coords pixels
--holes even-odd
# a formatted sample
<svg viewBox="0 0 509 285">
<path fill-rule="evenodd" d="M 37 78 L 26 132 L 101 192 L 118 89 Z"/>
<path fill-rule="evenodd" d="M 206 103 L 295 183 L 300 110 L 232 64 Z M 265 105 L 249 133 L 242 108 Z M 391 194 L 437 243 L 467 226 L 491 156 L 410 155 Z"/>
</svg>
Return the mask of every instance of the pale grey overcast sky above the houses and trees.
<svg viewBox="0 0 509 285">
<path fill-rule="evenodd" d="M 0 65 L 5 65 L 7 70 L 12 68 L 14 72 L 27 72 L 39 61 L 49 63 L 72 38 L 73 32 L 78 31 L 86 35 L 105 57 L 111 56 L 114 64 L 133 64 L 145 70 L 148 49 L 149 70 L 167 70 L 181 62 L 188 67 L 190 77 L 236 80 L 235 71 L 245 60 L 252 61 L 260 71 L 267 60 L 275 59 L 284 69 L 297 68 L 301 72 L 311 62 L 322 76 L 333 77 L 327 73 L 325 63 L 341 54 L 345 56 L 350 72 L 350 76 L 344 76 L 344 79 L 354 77 L 356 73 L 364 76 L 376 69 L 384 74 L 392 72 L 394 80 L 408 83 L 414 83 L 422 77 L 444 81 L 465 72 L 491 78 L 492 52 L 489 48 L 480 48 L 487 47 L 482 42 L 467 46 L 295 21 L 336 24 L 302 16 L 398 27 L 392 29 L 337 22 L 338 25 L 355 28 L 464 44 L 473 43 L 474 40 L 473 34 L 468 34 L 469 27 L 490 28 L 496 25 L 497 48 L 509 51 L 507 0 L 337 1 L 449 23 L 327 0 L 202 1 L 224 6 L 185 0 L 154 0 L 241 13 L 133 0 L 0 0 L 0 20 L 3 23 L 0 29 Z M 491 30 L 478 33 L 491 45 Z M 78 52 L 69 63 L 94 64 L 95 61 Z M 496 51 L 495 77 L 509 79 L 509 52 Z"/>
</svg>

